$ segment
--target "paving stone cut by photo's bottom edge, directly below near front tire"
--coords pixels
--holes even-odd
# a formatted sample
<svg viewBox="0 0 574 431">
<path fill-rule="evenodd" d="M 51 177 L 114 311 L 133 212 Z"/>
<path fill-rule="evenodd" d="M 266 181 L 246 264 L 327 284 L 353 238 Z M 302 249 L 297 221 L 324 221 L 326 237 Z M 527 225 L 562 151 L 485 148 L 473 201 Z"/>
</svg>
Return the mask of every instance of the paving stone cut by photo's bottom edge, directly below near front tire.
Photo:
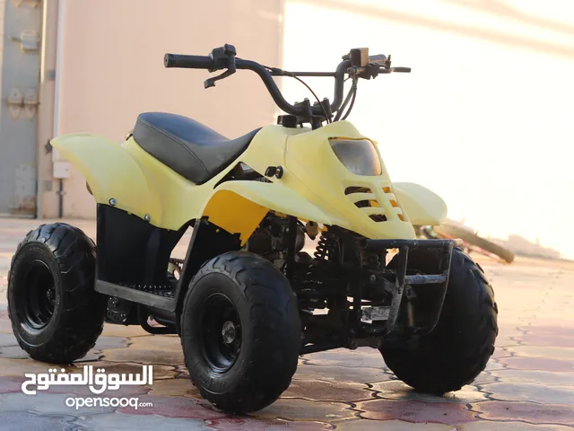
<svg viewBox="0 0 574 431">
<path fill-rule="evenodd" d="M 288 421 L 282 419 L 223 418 L 205 421 L 207 429 L 218 431 L 279 431 L 295 429 L 297 431 L 318 431 L 335 429 L 330 424 L 310 421 Z"/>
</svg>

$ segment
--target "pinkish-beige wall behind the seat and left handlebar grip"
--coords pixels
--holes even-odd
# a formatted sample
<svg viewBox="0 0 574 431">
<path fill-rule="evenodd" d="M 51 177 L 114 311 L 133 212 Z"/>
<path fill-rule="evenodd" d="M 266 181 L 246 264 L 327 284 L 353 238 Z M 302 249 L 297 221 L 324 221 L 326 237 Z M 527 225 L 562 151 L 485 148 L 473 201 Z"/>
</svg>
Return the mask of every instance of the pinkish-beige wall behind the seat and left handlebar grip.
<svg viewBox="0 0 574 431">
<path fill-rule="evenodd" d="M 163 55 L 207 55 L 231 43 L 238 57 L 278 65 L 282 0 L 59 3 L 63 43 L 54 135 L 91 132 L 120 141 L 148 110 L 186 115 L 229 137 L 274 121 L 274 103 L 257 75 L 239 72 L 204 90 L 206 71 L 165 69 Z M 40 216 L 57 216 L 56 189 L 43 192 Z M 93 217 L 94 209 L 82 175 L 72 169 L 64 216 Z"/>
</svg>

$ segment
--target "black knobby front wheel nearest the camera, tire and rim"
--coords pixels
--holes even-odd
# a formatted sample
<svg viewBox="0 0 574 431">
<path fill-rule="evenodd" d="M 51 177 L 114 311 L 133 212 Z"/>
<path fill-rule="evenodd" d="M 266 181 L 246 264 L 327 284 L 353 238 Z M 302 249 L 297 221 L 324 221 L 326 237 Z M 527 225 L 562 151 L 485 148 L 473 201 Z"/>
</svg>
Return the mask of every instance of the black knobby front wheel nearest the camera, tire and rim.
<svg viewBox="0 0 574 431">
<path fill-rule="evenodd" d="M 289 387 L 300 353 L 300 316 L 287 278 L 247 251 L 207 262 L 186 295 L 181 343 L 204 399 L 231 413 L 264 409 Z"/>
</svg>

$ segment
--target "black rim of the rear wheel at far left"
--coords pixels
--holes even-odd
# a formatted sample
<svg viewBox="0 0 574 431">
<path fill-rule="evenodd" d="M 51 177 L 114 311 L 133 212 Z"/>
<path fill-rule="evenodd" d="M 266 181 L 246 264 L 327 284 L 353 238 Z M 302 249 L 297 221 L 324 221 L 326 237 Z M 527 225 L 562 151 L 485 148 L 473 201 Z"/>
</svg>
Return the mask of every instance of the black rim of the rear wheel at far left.
<svg viewBox="0 0 574 431">
<path fill-rule="evenodd" d="M 34 260 L 24 277 L 20 307 L 22 323 L 32 330 L 48 326 L 56 309 L 56 286 L 46 263 Z"/>
</svg>

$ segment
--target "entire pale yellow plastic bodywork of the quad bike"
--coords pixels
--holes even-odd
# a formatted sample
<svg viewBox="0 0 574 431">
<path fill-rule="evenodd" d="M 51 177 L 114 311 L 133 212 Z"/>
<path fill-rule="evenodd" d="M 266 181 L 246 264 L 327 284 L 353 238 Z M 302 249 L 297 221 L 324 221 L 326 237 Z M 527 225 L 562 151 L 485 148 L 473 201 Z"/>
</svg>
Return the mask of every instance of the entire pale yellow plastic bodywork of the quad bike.
<svg viewBox="0 0 574 431">
<path fill-rule="evenodd" d="M 201 185 L 147 153 L 134 137 L 117 145 L 99 136 L 75 134 L 52 143 L 83 173 L 99 204 L 113 203 L 172 231 L 206 216 L 246 242 L 265 214 L 274 211 L 339 225 L 371 239 L 413 239 L 413 220 L 435 224 L 443 216 L 446 206 L 440 198 L 413 184 L 397 189 L 382 160 L 381 175 L 349 171 L 329 144 L 334 137 L 366 139 L 348 121 L 316 130 L 267 126 L 244 153 Z M 283 176 L 270 177 L 271 182 L 225 180 L 238 163 L 256 172 L 282 167 Z M 360 207 L 359 202 L 369 205 Z M 244 220 L 237 220 L 238 214 Z"/>
</svg>

